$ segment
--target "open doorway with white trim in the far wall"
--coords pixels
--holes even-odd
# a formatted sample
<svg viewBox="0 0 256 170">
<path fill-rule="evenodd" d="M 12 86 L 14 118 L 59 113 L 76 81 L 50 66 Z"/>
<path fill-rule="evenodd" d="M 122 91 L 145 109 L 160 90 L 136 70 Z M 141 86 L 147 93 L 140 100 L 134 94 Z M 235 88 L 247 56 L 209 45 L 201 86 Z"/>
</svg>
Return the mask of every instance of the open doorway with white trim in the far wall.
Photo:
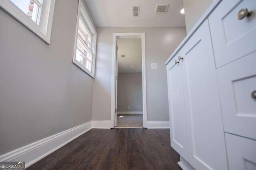
<svg viewBox="0 0 256 170">
<path fill-rule="evenodd" d="M 112 59 L 111 128 L 146 128 L 145 33 L 114 33 Z"/>
</svg>

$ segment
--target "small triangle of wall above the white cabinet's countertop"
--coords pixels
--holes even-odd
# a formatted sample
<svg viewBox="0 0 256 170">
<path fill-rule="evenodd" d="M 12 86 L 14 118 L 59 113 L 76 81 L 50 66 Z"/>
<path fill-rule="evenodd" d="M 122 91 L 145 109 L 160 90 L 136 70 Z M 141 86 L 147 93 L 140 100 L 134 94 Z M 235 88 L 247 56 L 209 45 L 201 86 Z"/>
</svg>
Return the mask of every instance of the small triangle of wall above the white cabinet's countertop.
<svg viewBox="0 0 256 170">
<path fill-rule="evenodd" d="M 212 4 L 212 0 L 183 0 L 187 34 Z"/>
</svg>

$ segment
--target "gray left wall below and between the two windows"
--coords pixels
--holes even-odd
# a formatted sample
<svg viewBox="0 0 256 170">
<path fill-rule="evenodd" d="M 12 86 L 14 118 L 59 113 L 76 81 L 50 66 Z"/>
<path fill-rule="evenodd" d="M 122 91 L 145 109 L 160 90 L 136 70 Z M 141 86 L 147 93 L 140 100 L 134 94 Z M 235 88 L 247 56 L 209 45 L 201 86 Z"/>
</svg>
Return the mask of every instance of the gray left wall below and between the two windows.
<svg viewBox="0 0 256 170">
<path fill-rule="evenodd" d="M 91 121 L 93 79 L 72 63 L 77 9 L 56 1 L 50 45 L 0 9 L 0 154 Z"/>
</svg>

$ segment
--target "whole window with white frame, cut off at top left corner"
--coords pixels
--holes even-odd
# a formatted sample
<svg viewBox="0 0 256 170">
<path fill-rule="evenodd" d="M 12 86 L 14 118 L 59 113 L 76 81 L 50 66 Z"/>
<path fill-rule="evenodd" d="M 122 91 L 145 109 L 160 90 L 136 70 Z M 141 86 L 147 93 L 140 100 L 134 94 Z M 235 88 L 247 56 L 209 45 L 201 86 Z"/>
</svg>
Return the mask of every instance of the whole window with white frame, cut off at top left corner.
<svg viewBox="0 0 256 170">
<path fill-rule="evenodd" d="M 0 7 L 50 44 L 55 0 L 0 0 Z"/>
</svg>

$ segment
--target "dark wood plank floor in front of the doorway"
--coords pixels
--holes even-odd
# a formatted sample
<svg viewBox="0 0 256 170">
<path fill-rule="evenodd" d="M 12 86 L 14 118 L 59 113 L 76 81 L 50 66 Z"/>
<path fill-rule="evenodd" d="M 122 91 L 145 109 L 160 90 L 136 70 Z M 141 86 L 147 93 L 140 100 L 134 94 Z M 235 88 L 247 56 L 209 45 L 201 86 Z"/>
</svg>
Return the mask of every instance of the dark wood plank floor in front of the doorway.
<svg viewBox="0 0 256 170">
<path fill-rule="evenodd" d="M 179 160 L 170 129 L 91 129 L 28 170 L 180 170 Z"/>
</svg>

